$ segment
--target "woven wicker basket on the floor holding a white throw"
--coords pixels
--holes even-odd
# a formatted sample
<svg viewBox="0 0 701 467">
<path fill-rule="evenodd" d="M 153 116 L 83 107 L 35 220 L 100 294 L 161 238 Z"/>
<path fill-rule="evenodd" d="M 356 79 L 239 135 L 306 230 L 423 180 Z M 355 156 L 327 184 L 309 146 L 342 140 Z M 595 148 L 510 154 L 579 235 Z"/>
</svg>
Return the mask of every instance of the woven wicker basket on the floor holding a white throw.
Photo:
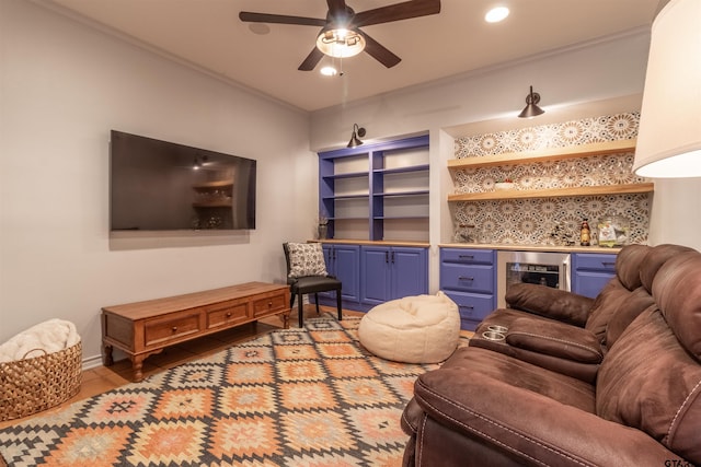
<svg viewBox="0 0 701 467">
<path fill-rule="evenodd" d="M 31 416 L 70 399 L 82 381 L 82 343 L 0 363 L 0 421 Z"/>
</svg>

